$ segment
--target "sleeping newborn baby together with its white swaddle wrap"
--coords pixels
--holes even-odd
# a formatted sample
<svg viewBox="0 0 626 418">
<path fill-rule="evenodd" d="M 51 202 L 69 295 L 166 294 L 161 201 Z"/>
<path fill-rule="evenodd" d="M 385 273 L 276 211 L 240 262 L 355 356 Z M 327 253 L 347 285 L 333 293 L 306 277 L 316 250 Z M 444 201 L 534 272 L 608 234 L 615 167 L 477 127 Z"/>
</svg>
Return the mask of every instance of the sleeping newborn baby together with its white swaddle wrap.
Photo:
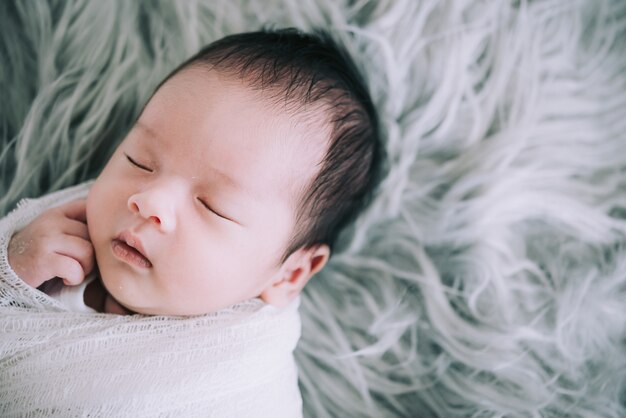
<svg viewBox="0 0 626 418">
<path fill-rule="evenodd" d="M 2 414 L 301 416 L 298 295 L 380 155 L 369 95 L 328 36 L 201 50 L 95 181 L 0 220 Z"/>
</svg>

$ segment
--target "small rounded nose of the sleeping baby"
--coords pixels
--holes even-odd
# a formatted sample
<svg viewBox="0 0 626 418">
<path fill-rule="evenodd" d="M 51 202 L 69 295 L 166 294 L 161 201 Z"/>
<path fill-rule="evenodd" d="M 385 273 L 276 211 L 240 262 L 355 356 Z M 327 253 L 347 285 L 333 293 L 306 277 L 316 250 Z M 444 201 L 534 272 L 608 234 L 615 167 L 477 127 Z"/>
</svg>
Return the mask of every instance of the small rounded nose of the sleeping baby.
<svg viewBox="0 0 626 418">
<path fill-rule="evenodd" d="M 128 198 L 128 208 L 164 232 L 176 227 L 172 196 L 157 188 L 135 193 Z"/>
</svg>

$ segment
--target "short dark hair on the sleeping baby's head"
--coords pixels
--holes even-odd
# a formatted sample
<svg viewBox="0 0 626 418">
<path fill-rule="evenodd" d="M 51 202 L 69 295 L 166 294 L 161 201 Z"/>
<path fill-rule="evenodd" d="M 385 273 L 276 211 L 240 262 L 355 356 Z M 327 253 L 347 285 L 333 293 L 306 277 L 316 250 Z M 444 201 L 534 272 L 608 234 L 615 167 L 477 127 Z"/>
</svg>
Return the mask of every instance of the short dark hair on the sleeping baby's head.
<svg viewBox="0 0 626 418">
<path fill-rule="evenodd" d="M 264 29 L 219 39 L 176 68 L 209 66 L 273 93 L 294 113 L 322 112 L 330 126 L 321 168 L 305 189 L 296 230 L 283 261 L 299 248 L 327 244 L 369 203 L 379 180 L 382 145 L 378 118 L 365 82 L 348 53 L 323 31 Z M 160 87 L 160 86 L 159 86 Z M 158 90 L 158 88 L 157 88 Z"/>
</svg>

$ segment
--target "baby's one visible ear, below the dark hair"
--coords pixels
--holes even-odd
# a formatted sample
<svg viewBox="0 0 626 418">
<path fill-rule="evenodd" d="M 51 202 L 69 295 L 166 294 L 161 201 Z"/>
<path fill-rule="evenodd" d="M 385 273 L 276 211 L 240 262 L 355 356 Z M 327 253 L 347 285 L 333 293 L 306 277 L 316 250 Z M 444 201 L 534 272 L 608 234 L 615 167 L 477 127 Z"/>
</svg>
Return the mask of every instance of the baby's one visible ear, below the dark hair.
<svg viewBox="0 0 626 418">
<path fill-rule="evenodd" d="M 261 299 L 282 308 L 296 298 L 311 277 L 326 265 L 330 248 L 321 244 L 294 251 L 281 265 L 272 282 L 261 292 Z"/>
</svg>

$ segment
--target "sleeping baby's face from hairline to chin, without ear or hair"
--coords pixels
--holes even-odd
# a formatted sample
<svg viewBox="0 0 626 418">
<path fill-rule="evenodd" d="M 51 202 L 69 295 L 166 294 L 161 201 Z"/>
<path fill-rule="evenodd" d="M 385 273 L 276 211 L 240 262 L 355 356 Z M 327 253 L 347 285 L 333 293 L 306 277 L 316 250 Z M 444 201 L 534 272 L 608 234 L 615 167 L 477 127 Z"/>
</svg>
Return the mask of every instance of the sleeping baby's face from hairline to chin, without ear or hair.
<svg viewBox="0 0 626 418">
<path fill-rule="evenodd" d="M 261 94 L 215 72 L 182 71 L 97 178 L 89 234 L 103 283 L 125 307 L 203 314 L 257 297 L 277 279 L 324 141 Z M 129 255 L 124 241 L 146 258 Z"/>
</svg>

